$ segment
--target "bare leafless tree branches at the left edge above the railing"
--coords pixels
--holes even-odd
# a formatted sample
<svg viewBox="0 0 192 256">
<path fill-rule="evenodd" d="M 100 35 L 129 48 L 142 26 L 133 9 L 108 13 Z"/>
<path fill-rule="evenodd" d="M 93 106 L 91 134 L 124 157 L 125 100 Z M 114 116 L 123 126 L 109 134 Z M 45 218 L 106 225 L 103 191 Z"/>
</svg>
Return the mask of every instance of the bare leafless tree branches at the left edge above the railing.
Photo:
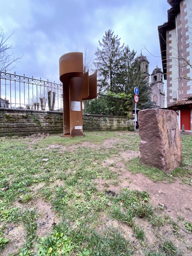
<svg viewBox="0 0 192 256">
<path fill-rule="evenodd" d="M 12 70 L 16 66 L 17 61 L 22 58 L 14 57 L 13 52 L 10 52 L 14 49 L 12 45 L 8 44 L 8 39 L 12 35 L 13 33 L 8 38 L 5 38 L 3 29 L 0 27 L 0 71 Z"/>
</svg>

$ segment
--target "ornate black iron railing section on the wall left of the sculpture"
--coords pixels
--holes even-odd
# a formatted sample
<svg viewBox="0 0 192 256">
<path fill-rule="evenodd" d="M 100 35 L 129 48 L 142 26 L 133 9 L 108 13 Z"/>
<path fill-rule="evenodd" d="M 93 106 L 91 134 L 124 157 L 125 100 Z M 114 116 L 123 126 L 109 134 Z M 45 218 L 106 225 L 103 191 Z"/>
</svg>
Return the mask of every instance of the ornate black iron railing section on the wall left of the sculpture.
<svg viewBox="0 0 192 256">
<path fill-rule="evenodd" d="M 62 85 L 25 74 L 0 72 L 0 107 L 62 110 Z"/>
</svg>

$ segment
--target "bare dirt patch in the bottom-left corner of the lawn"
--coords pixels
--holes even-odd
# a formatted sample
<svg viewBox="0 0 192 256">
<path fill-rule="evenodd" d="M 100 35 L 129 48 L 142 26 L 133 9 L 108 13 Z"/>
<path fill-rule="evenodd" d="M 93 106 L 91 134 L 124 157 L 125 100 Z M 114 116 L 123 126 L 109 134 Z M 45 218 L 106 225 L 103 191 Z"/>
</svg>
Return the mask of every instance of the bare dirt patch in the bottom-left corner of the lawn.
<svg viewBox="0 0 192 256">
<path fill-rule="evenodd" d="M 20 248 L 24 246 L 26 232 L 22 225 L 8 223 L 4 237 L 9 239 L 5 248 L 3 248 L 1 255 L 7 256 L 9 254 L 15 255 Z"/>
</svg>

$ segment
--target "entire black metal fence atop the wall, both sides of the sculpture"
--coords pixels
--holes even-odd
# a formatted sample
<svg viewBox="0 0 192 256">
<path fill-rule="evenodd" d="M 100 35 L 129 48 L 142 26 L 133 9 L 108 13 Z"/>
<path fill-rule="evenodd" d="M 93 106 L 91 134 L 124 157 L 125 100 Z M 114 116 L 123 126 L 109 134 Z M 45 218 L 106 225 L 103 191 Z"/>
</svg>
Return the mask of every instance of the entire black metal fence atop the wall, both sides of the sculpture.
<svg viewBox="0 0 192 256">
<path fill-rule="evenodd" d="M 125 99 L 103 94 L 83 101 L 87 114 L 126 116 L 129 107 Z M 62 84 L 0 72 L 0 108 L 62 111 Z"/>
</svg>

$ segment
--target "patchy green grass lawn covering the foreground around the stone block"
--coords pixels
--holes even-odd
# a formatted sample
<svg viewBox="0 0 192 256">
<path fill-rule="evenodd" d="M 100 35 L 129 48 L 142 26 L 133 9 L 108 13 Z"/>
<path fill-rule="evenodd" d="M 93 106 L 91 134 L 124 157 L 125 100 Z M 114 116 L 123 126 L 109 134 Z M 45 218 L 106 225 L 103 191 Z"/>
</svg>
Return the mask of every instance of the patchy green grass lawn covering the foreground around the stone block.
<svg viewBox="0 0 192 256">
<path fill-rule="evenodd" d="M 192 136 L 167 174 L 140 163 L 138 133 L 85 135 L 0 138 L 0 255 L 192 255 L 189 218 L 131 189 L 137 177 L 191 193 Z"/>
</svg>

